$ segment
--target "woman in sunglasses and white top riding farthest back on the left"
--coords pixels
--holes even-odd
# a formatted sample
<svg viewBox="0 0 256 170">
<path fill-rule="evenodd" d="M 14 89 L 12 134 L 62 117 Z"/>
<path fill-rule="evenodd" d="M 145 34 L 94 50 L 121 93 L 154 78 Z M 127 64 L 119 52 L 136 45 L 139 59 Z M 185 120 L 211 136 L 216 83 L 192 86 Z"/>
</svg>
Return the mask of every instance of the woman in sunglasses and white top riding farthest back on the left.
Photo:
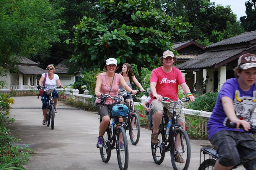
<svg viewBox="0 0 256 170">
<path fill-rule="evenodd" d="M 46 67 L 47 69 L 47 73 L 46 73 L 46 81 L 45 81 L 45 86 L 48 87 L 48 88 L 55 88 L 56 84 L 59 86 L 59 87 L 62 87 L 63 86 L 61 85 L 60 83 L 60 79 L 59 79 L 59 76 L 57 74 L 54 74 L 54 66 L 52 64 L 48 65 Z M 44 82 L 44 76 L 45 74 L 43 73 L 40 80 L 39 80 L 39 89 L 40 87 L 43 85 L 43 82 Z M 47 97 L 47 94 L 46 94 L 46 91 L 47 89 L 44 89 L 44 93 L 42 95 L 42 112 L 43 112 L 43 115 L 44 115 L 44 119 L 42 121 L 42 124 L 43 125 L 46 125 L 46 113 L 47 113 L 47 102 L 48 102 L 48 97 Z M 57 92 L 56 89 L 54 89 L 54 91 L 52 92 L 52 96 L 54 98 L 54 111 L 55 113 L 57 113 L 57 103 L 58 103 L 58 99 L 59 99 L 59 94 Z"/>
</svg>

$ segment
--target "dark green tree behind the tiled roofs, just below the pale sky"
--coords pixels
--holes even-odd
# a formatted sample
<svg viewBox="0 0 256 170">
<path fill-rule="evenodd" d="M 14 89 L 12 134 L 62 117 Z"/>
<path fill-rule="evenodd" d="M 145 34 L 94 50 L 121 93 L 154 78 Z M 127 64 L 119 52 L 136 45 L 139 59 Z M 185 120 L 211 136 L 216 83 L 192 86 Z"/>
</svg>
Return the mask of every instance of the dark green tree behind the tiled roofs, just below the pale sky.
<svg viewBox="0 0 256 170">
<path fill-rule="evenodd" d="M 179 42 L 194 39 L 202 45 L 210 45 L 229 38 L 224 34 L 224 30 L 228 29 L 228 26 L 241 28 L 236 23 L 236 15 L 233 14 L 230 6 L 215 6 L 214 2 L 210 2 L 210 0 L 156 0 L 155 6 L 170 16 L 182 16 L 184 21 L 192 24 L 193 28 L 187 34 L 175 39 Z M 241 33 L 235 32 L 234 34 Z M 233 33 L 230 32 L 230 35 Z"/>
</svg>

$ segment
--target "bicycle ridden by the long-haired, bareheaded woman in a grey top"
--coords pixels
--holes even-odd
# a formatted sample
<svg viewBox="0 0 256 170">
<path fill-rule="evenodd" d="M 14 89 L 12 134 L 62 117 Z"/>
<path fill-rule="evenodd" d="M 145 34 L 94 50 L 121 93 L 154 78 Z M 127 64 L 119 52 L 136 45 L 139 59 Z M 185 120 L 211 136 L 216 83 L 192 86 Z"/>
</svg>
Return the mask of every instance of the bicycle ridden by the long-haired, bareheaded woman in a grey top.
<svg viewBox="0 0 256 170">
<path fill-rule="evenodd" d="M 133 95 L 132 92 L 128 92 L 126 90 L 122 90 L 121 92 L 125 92 L 121 96 L 136 96 Z M 140 90 L 137 90 L 137 93 L 138 92 L 140 92 Z M 130 141 L 133 145 L 136 145 L 140 140 L 140 119 L 136 111 L 133 109 L 133 104 L 134 103 L 131 100 L 128 115 L 124 119 L 124 129 L 129 130 Z"/>
</svg>

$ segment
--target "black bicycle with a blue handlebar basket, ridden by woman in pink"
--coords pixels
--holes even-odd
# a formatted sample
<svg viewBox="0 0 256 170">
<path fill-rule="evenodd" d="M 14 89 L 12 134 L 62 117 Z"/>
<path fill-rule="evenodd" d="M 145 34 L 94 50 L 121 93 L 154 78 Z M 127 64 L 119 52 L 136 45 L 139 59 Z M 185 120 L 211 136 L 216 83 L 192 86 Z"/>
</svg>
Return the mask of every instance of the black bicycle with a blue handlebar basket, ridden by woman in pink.
<svg viewBox="0 0 256 170">
<path fill-rule="evenodd" d="M 124 129 L 124 122 L 119 120 L 119 117 L 125 119 L 127 116 L 128 105 L 127 103 L 122 103 L 120 97 L 111 97 L 107 94 L 102 94 L 99 98 L 111 98 L 114 100 L 113 104 L 109 104 L 109 116 L 113 120 L 113 127 L 109 121 L 108 128 L 103 135 L 103 147 L 99 148 L 98 144 L 96 145 L 99 148 L 101 159 L 103 162 L 108 162 L 111 157 L 111 150 L 116 149 L 117 162 L 120 170 L 127 170 L 129 153 L 128 153 L 128 142 L 126 137 L 126 131 Z M 116 110 L 117 109 L 117 110 Z M 127 110 L 126 110 L 127 109 Z M 102 118 L 99 117 L 99 123 L 101 123 Z M 113 128 L 113 132 L 112 132 Z M 124 144 L 124 147 L 120 147 L 120 143 Z"/>
</svg>

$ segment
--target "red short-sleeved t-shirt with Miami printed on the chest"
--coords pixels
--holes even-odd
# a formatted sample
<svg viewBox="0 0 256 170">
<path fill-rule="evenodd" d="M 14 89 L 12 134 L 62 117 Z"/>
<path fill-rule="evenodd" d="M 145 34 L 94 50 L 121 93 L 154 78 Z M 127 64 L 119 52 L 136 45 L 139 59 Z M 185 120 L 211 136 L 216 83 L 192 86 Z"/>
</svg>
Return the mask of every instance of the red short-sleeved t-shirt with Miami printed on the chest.
<svg viewBox="0 0 256 170">
<path fill-rule="evenodd" d="M 157 94 L 170 99 L 178 99 L 178 85 L 185 83 L 179 69 L 173 67 L 171 72 L 163 71 L 162 67 L 154 69 L 151 73 L 150 83 L 155 82 Z M 150 94 L 150 103 L 154 100 Z"/>
</svg>

